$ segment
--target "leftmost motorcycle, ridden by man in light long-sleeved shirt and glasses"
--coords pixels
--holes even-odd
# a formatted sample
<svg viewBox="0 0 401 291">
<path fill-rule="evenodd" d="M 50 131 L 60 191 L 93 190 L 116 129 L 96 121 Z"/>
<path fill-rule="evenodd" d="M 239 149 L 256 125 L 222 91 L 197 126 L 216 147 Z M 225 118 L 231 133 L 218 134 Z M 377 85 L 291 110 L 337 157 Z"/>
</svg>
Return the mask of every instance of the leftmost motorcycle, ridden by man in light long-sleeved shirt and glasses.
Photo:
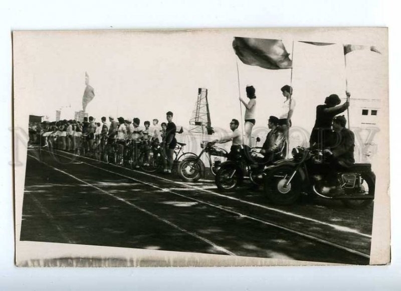
<svg viewBox="0 0 401 291">
<path fill-rule="evenodd" d="M 200 178 L 205 177 L 205 164 L 200 159 L 204 154 L 207 155 L 206 157 L 212 174 L 216 176 L 217 172 L 222 166 L 221 159 L 219 158 L 227 158 L 228 152 L 215 143 L 216 141 L 202 141 L 202 143 L 200 143 L 200 148 L 202 148 L 202 151 L 199 155 L 185 158 L 178 164 L 178 175 L 182 180 L 186 182 L 196 182 Z M 213 160 L 212 156 L 215 157 Z"/>
</svg>

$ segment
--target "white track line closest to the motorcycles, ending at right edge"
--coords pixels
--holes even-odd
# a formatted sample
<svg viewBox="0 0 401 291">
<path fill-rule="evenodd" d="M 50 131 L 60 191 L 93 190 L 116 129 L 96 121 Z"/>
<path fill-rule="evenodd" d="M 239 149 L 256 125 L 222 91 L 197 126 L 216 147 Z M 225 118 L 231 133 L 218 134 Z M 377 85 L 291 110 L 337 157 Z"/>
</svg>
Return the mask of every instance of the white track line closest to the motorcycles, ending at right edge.
<svg viewBox="0 0 401 291">
<path fill-rule="evenodd" d="M 48 152 L 48 151 L 46 151 L 46 152 Z M 48 153 L 50 153 L 50 152 L 48 152 Z M 59 155 L 59 154 L 55 154 L 55 153 L 51 153 L 51 154 Z M 372 238 L 372 236 L 369 235 L 369 234 L 365 234 L 365 233 L 359 232 L 358 230 L 352 229 L 352 228 L 347 227 L 347 226 L 331 224 L 331 223 L 328 223 L 328 222 L 324 222 L 324 221 L 320 221 L 320 220 L 317 220 L 317 219 L 309 218 L 309 217 L 306 217 L 306 216 L 303 216 L 303 215 L 295 214 L 295 213 L 292 213 L 292 212 L 288 212 L 288 211 L 284 211 L 284 210 L 280 210 L 280 209 L 276 209 L 276 208 L 271 208 L 271 207 L 268 207 L 268 206 L 265 206 L 265 205 L 261 205 L 261 204 L 258 204 L 258 203 L 254 203 L 254 202 L 242 200 L 242 199 L 239 199 L 239 198 L 235 198 L 235 197 L 232 197 L 232 196 L 227 196 L 227 195 L 224 195 L 224 194 L 216 193 L 216 192 L 204 189 L 204 188 L 200 188 L 200 187 L 193 186 L 193 185 L 188 185 L 188 184 L 186 184 L 184 182 L 173 181 L 173 180 L 169 180 L 169 179 L 166 179 L 166 178 L 163 178 L 163 177 L 159 177 L 159 176 L 156 176 L 156 175 L 152 175 L 152 174 L 149 174 L 149 173 L 127 169 L 125 167 L 121 167 L 121 166 L 117 166 L 117 165 L 113 165 L 113 164 L 108 164 L 108 163 L 105 163 L 103 161 L 98 161 L 98 160 L 95 160 L 95 159 L 82 157 L 82 156 L 78 156 L 78 155 L 71 154 L 71 153 L 66 153 L 66 154 L 70 154 L 70 155 L 73 155 L 73 156 L 85 158 L 85 159 L 96 161 L 96 162 L 101 162 L 101 163 L 104 163 L 106 165 L 111 165 L 111 166 L 114 166 L 114 167 L 122 168 L 122 169 L 125 169 L 125 170 L 128 170 L 128 171 L 132 171 L 132 172 L 135 172 L 135 173 L 140 173 L 140 174 L 143 174 L 143 175 L 147 175 L 147 176 L 150 176 L 150 177 L 153 177 L 153 178 L 158 178 L 158 179 L 161 179 L 161 180 L 165 180 L 165 181 L 172 182 L 172 183 L 175 183 L 175 184 L 183 185 L 183 186 L 186 186 L 186 187 L 191 187 L 191 188 L 199 190 L 199 191 L 203 191 L 203 192 L 206 192 L 206 193 L 209 193 L 209 194 L 213 194 L 213 195 L 216 195 L 216 196 L 219 196 L 219 197 L 224 197 L 224 198 L 227 198 L 227 199 L 239 201 L 239 202 L 242 202 L 242 203 L 245 203 L 245 204 L 249 204 L 249 205 L 252 205 L 252 206 L 255 206 L 255 207 L 260 207 L 260 208 L 263 208 L 263 209 L 267 209 L 267 210 L 270 210 L 270 211 L 275 211 L 275 212 L 286 214 L 286 215 L 293 216 L 293 217 L 296 217 L 296 218 L 309 220 L 309 221 L 312 221 L 312 222 L 315 222 L 315 223 L 319 223 L 319 224 L 323 224 L 323 225 L 326 225 L 326 226 L 330 226 L 330 227 L 332 227 L 334 229 L 337 229 L 337 230 L 340 230 L 342 232 L 350 232 L 350 233 L 355 233 L 357 235 L 364 236 L 364 237 L 367 237 L 367 238 L 370 238 L 370 239 Z M 63 155 L 59 155 L 59 156 L 67 158 L 66 156 L 63 156 Z M 82 162 L 82 163 L 85 163 L 85 162 Z M 87 164 L 87 163 L 85 163 L 85 164 Z M 87 164 L 87 165 L 91 165 L 91 164 Z M 102 169 L 102 168 L 99 168 L 99 169 Z M 104 169 L 102 169 L 102 170 L 104 170 Z M 117 174 L 115 172 L 113 172 L 113 173 Z"/>
</svg>

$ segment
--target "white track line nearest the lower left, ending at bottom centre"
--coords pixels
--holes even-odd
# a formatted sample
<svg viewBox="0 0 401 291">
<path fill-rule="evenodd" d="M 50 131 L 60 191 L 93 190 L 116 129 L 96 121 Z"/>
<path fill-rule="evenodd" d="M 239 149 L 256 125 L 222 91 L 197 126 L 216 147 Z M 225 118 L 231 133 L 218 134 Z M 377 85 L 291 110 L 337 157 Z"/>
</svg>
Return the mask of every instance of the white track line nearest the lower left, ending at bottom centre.
<svg viewBox="0 0 401 291">
<path fill-rule="evenodd" d="M 42 161 L 40 161 L 39 159 L 37 159 L 36 157 L 34 157 L 34 156 L 31 156 L 31 155 L 28 155 L 28 156 L 30 156 L 31 158 L 34 158 L 34 159 L 37 160 L 39 163 L 42 163 L 42 164 L 44 164 L 44 165 L 46 165 L 46 166 L 52 168 L 52 169 L 55 170 L 55 171 L 58 171 L 58 172 L 60 172 L 60 173 L 63 173 L 63 174 L 65 174 L 65 175 L 67 175 L 67 176 L 69 176 L 69 177 L 71 177 L 71 178 L 73 178 L 73 179 L 75 179 L 75 180 L 77 180 L 77 181 L 79 181 L 79 182 L 81 182 L 81 183 L 87 184 L 88 186 L 91 186 L 91 187 L 95 188 L 96 190 L 98 190 L 98 191 L 100 191 L 100 192 L 103 192 L 104 194 L 113 197 L 114 199 L 117 199 L 117 200 L 119 200 L 119 201 L 121 201 L 121 202 L 123 202 L 123 203 L 125 203 L 125 204 L 128 204 L 128 205 L 134 207 L 135 209 L 140 210 L 140 211 L 142 211 L 142 212 L 144 212 L 144 213 L 146 213 L 146 214 L 148 214 L 148 215 L 150 215 L 150 216 L 156 218 L 157 220 L 160 220 L 160 221 L 162 221 L 162 222 L 164 222 L 164 223 L 166 223 L 166 224 L 172 226 L 172 227 L 175 228 L 175 229 L 178 229 L 179 231 L 182 231 L 182 232 L 184 232 L 184 233 L 186 233 L 186 234 L 189 234 L 189 235 L 191 235 L 191 236 L 193 236 L 193 237 L 195 237 L 195 238 L 197 238 L 197 239 L 199 239 L 199 240 L 202 240 L 202 241 L 204 241 L 204 242 L 210 244 L 211 246 L 213 246 L 213 247 L 214 247 L 215 249 L 217 249 L 217 250 L 220 250 L 220 251 L 222 251 L 222 252 L 224 252 L 224 253 L 226 253 L 226 254 L 229 254 L 229 255 L 233 255 L 233 256 L 236 255 L 235 253 L 233 253 L 233 252 L 227 250 L 226 248 L 215 244 L 214 242 L 210 241 L 209 239 L 204 238 L 204 237 L 202 237 L 202 236 L 200 236 L 200 235 L 197 235 L 197 234 L 194 233 L 194 232 L 185 230 L 185 229 L 179 227 L 178 225 L 176 225 L 176 224 L 174 224 L 174 223 L 172 223 L 172 222 L 170 222 L 170 221 L 168 221 L 168 220 L 166 220 L 166 219 L 164 219 L 164 218 L 161 218 L 161 217 L 159 217 L 158 215 L 156 215 L 156 214 L 154 214 L 154 213 L 151 213 L 151 212 L 149 212 L 149 211 L 147 211 L 147 210 L 145 210 L 145 209 L 143 209 L 143 208 L 141 208 L 141 207 L 138 207 L 138 206 L 136 206 L 135 204 L 133 204 L 133 203 L 131 203 L 131 202 L 129 202 L 129 201 L 123 199 L 123 198 L 120 198 L 120 197 L 118 197 L 118 196 L 115 196 L 115 195 L 113 195 L 113 194 L 111 194 L 111 193 L 109 193 L 109 192 L 107 192 L 107 191 L 105 191 L 105 190 L 103 190 L 103 189 L 101 189 L 101 188 L 99 188 L 99 187 L 96 187 L 96 186 L 94 186 L 94 185 L 92 185 L 92 184 L 90 184 L 90 183 L 88 183 L 88 182 L 86 182 L 86 181 L 84 181 L 84 180 L 81 180 L 81 179 L 75 177 L 74 175 L 71 175 L 71 174 L 69 174 L 69 173 L 67 173 L 67 172 L 65 172 L 65 171 L 63 171 L 63 170 L 57 169 L 57 168 L 55 168 L 55 167 L 53 167 L 53 166 L 51 166 L 51 165 L 49 165 L 49 164 L 47 164 L 47 163 L 45 163 L 45 162 L 42 162 Z M 83 162 L 83 163 L 84 163 L 84 162 Z M 86 163 L 84 163 L 84 164 L 86 164 Z"/>
</svg>

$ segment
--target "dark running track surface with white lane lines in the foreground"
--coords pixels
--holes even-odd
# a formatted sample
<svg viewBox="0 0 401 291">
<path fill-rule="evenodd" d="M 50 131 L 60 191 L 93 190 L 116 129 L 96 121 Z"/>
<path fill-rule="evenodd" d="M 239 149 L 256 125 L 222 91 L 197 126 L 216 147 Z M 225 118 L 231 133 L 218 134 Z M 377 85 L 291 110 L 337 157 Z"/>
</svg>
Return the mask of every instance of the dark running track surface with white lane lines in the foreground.
<svg viewBox="0 0 401 291">
<path fill-rule="evenodd" d="M 269 204 L 66 152 L 28 151 L 21 240 L 368 264 L 370 206 Z"/>
</svg>

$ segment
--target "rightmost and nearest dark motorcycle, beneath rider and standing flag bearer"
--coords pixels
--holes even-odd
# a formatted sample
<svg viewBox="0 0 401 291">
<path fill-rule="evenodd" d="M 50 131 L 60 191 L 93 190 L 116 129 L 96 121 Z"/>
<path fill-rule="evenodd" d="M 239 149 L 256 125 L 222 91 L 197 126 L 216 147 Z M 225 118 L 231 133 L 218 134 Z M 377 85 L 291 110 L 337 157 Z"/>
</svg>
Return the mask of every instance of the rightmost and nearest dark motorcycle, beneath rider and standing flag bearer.
<svg viewBox="0 0 401 291">
<path fill-rule="evenodd" d="M 349 208 L 363 208 L 372 203 L 375 175 L 370 164 L 354 164 L 338 171 L 334 179 L 341 191 L 333 196 L 328 190 L 327 179 L 323 179 L 322 173 L 327 173 L 330 165 L 321 150 L 297 147 L 292 156 L 292 159 L 278 161 L 265 169 L 264 193 L 273 203 L 293 204 L 301 193 L 312 199 L 340 200 Z"/>
</svg>

